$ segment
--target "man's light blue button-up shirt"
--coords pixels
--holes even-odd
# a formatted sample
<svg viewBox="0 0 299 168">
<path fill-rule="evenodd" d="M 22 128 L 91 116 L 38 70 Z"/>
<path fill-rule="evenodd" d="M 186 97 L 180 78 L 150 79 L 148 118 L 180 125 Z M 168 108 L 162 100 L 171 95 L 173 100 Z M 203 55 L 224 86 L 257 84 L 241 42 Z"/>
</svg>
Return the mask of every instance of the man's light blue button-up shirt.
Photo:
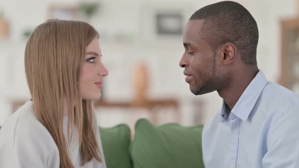
<svg viewBox="0 0 299 168">
<path fill-rule="evenodd" d="M 298 168 L 299 97 L 260 70 L 230 115 L 226 105 L 203 130 L 206 168 Z"/>
</svg>

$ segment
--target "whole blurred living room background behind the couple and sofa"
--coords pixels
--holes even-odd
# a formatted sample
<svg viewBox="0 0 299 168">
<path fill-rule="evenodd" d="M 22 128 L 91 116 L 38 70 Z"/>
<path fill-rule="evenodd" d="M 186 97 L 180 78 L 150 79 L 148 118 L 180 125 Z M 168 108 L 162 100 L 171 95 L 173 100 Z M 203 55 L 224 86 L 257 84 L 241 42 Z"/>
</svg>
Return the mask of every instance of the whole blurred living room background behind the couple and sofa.
<svg viewBox="0 0 299 168">
<path fill-rule="evenodd" d="M 30 98 L 24 48 L 47 19 L 83 20 L 100 33 L 109 71 L 95 102 L 98 124 L 111 127 L 138 118 L 155 124 L 203 124 L 221 107 L 216 92 L 195 96 L 179 60 L 189 17 L 212 0 L 10 0 L 0 1 L 0 126 Z M 239 0 L 259 29 L 258 67 L 268 80 L 299 93 L 298 0 Z M 131 129 L 133 130 L 133 129 Z"/>
</svg>

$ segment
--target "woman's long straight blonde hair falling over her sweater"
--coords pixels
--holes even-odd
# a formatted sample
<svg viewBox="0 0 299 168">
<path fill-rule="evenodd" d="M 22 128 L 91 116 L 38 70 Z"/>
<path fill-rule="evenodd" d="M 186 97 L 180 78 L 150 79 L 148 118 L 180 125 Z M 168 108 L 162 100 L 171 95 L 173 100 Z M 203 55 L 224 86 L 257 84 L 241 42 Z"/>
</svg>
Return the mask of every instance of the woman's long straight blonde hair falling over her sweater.
<svg viewBox="0 0 299 168">
<path fill-rule="evenodd" d="M 95 37 L 99 37 L 98 32 L 88 23 L 48 20 L 33 30 L 26 44 L 25 72 L 34 112 L 53 137 L 62 168 L 74 167 L 67 148 L 73 125 L 78 129 L 81 165 L 92 158 L 102 162 L 93 104 L 82 100 L 80 94 L 86 47 Z M 64 106 L 68 107 L 67 141 L 63 133 Z"/>
</svg>

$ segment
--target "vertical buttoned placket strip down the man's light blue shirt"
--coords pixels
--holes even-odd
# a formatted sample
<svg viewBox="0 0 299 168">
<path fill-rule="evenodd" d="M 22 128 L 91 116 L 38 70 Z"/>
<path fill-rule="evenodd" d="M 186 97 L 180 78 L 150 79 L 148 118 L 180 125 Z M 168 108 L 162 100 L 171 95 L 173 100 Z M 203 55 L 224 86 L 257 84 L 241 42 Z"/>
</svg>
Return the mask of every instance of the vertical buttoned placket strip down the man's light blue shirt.
<svg viewBox="0 0 299 168">
<path fill-rule="evenodd" d="M 231 165 L 230 168 L 237 168 L 237 155 L 239 147 L 240 118 L 235 117 L 231 126 Z"/>
</svg>

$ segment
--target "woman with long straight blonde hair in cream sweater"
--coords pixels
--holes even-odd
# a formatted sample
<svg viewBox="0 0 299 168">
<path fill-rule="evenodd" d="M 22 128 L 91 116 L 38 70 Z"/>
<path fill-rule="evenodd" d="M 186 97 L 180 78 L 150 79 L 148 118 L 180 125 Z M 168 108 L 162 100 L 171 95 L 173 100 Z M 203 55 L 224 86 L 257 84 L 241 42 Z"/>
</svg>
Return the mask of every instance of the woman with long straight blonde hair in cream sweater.
<svg viewBox="0 0 299 168">
<path fill-rule="evenodd" d="M 48 20 L 25 49 L 32 99 L 0 131 L 0 167 L 106 167 L 93 110 L 108 74 L 88 23 Z"/>
</svg>

